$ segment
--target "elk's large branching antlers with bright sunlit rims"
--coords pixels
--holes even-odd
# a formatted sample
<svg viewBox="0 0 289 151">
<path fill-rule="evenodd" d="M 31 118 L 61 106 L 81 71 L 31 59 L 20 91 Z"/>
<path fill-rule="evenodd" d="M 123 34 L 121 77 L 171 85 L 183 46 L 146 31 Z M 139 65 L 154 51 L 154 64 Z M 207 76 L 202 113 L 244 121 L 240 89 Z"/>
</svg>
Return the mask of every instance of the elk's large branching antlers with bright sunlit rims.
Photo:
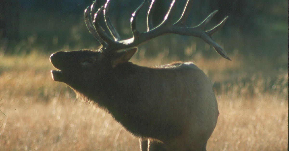
<svg viewBox="0 0 289 151">
<path fill-rule="evenodd" d="M 151 16 L 153 11 L 153 3 L 155 0 L 151 1 L 149 10 L 147 12 L 147 32 L 141 33 L 136 29 L 136 16 L 138 15 L 139 10 L 144 6 L 144 3 L 148 0 L 144 0 L 140 6 L 132 14 L 131 22 L 131 31 L 133 37 L 130 39 L 122 40 L 118 32 L 115 30 L 114 26 L 111 24 L 110 19 L 106 14 L 108 12 L 108 7 L 110 0 L 107 0 L 104 6 L 95 10 L 95 4 L 97 1 L 94 1 L 92 5 L 85 9 L 84 18 L 85 23 L 92 35 L 99 41 L 102 45 L 103 52 L 113 53 L 114 51 L 136 47 L 150 39 L 158 37 L 164 34 L 179 34 L 187 35 L 193 37 L 199 37 L 203 39 L 206 43 L 214 47 L 214 49 L 224 58 L 231 61 L 231 59 L 226 55 L 225 50 L 218 45 L 213 39 L 212 34 L 219 30 L 226 22 L 227 17 L 225 17 L 218 25 L 214 28 L 204 31 L 205 25 L 211 20 L 211 18 L 216 14 L 217 10 L 212 12 L 207 18 L 203 20 L 198 26 L 195 27 L 186 27 L 185 23 L 188 19 L 188 15 L 192 6 L 192 0 L 187 0 L 186 6 L 184 7 L 183 13 L 179 20 L 173 23 L 172 15 L 175 13 L 176 5 L 175 2 L 178 0 L 172 0 L 170 8 L 166 13 L 164 20 L 158 26 L 153 27 L 151 24 Z M 101 22 L 99 16 L 103 16 L 104 22 L 109 30 L 109 35 L 105 33 L 99 22 Z M 111 38 L 112 37 L 112 38 Z"/>
</svg>

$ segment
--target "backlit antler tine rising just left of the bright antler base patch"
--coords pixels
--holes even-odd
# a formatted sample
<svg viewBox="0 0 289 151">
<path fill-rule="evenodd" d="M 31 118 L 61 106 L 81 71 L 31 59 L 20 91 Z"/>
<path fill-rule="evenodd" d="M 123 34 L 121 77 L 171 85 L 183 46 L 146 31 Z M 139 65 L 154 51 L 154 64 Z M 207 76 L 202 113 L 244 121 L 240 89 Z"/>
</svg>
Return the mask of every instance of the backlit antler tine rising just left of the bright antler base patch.
<svg viewBox="0 0 289 151">
<path fill-rule="evenodd" d="M 112 37 L 114 38 L 114 41 L 118 41 L 121 40 L 121 37 L 119 36 L 118 32 L 116 31 L 116 29 L 114 28 L 114 26 L 112 25 L 112 23 L 110 22 L 110 18 L 108 15 L 105 15 L 106 12 L 108 12 L 109 9 L 109 4 L 110 4 L 110 0 L 107 0 L 105 5 L 104 5 L 104 20 L 105 20 L 105 24 L 108 27 L 110 34 L 112 35 Z"/>
</svg>

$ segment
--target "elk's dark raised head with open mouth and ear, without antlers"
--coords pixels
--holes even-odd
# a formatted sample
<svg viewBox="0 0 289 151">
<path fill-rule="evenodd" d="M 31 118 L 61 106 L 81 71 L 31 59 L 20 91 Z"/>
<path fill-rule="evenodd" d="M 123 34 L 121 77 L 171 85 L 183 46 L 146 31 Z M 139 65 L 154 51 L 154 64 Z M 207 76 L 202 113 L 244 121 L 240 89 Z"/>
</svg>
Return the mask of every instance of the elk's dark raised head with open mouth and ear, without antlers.
<svg viewBox="0 0 289 151">
<path fill-rule="evenodd" d="M 92 87 L 102 85 L 105 77 L 108 77 L 116 66 L 128 62 L 135 52 L 136 48 L 111 55 L 90 50 L 58 51 L 50 56 L 53 66 L 59 69 L 51 71 L 52 78 L 81 93 L 90 93 Z"/>
</svg>

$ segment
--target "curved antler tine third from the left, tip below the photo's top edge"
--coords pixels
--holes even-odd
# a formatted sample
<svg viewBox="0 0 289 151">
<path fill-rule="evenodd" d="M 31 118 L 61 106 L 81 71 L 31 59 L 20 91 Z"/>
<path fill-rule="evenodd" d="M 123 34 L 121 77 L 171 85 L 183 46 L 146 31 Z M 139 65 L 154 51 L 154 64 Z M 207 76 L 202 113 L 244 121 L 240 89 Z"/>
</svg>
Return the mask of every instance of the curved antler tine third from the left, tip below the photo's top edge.
<svg viewBox="0 0 289 151">
<path fill-rule="evenodd" d="M 108 37 L 108 35 L 105 33 L 105 31 L 101 28 L 99 24 L 99 16 L 101 13 L 103 14 L 103 10 L 104 6 L 102 6 L 97 10 L 97 12 L 94 15 L 93 23 L 99 37 L 103 39 L 108 45 L 111 45 L 113 43 L 113 40 L 110 37 Z"/>
</svg>

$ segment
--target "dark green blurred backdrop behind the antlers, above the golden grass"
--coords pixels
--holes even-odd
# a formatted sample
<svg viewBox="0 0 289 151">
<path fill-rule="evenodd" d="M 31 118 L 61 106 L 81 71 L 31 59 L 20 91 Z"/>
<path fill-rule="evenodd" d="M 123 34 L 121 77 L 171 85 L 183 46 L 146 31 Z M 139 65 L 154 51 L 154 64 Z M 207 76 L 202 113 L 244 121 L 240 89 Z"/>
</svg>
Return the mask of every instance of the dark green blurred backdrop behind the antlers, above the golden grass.
<svg viewBox="0 0 289 151">
<path fill-rule="evenodd" d="M 129 19 L 142 0 L 114 0 L 110 5 L 109 16 L 122 38 L 132 36 Z M 179 3 L 179 14 L 186 1 Z M 31 48 L 38 51 L 55 52 L 58 50 L 78 50 L 97 48 L 97 41 L 89 34 L 84 23 L 84 9 L 92 0 L 1 0 L 0 9 L 0 45 L 1 53 L 29 53 Z M 105 1 L 99 0 L 98 5 Z M 169 2 L 155 3 L 154 25 L 162 21 Z M 145 31 L 145 13 L 143 8 L 138 17 L 138 29 Z M 208 14 L 218 9 L 207 29 L 212 28 L 225 16 L 229 16 L 225 26 L 213 35 L 213 38 L 227 50 L 227 53 L 270 56 L 279 62 L 287 58 L 288 43 L 288 1 L 268 0 L 194 0 L 187 25 L 198 25 Z M 181 39 L 175 41 L 174 39 Z M 146 47 L 145 56 L 155 56 L 168 51 L 168 56 L 176 55 L 181 59 L 200 51 L 205 56 L 213 49 L 205 49 L 202 40 L 187 36 L 169 35 L 154 39 Z M 175 42 L 174 42 L 175 41 Z M 184 49 L 196 43 L 192 52 Z M 207 46 L 208 47 L 208 46 Z M 165 48 L 165 49 L 164 49 Z M 280 58 L 284 56 L 283 58 Z"/>
</svg>

